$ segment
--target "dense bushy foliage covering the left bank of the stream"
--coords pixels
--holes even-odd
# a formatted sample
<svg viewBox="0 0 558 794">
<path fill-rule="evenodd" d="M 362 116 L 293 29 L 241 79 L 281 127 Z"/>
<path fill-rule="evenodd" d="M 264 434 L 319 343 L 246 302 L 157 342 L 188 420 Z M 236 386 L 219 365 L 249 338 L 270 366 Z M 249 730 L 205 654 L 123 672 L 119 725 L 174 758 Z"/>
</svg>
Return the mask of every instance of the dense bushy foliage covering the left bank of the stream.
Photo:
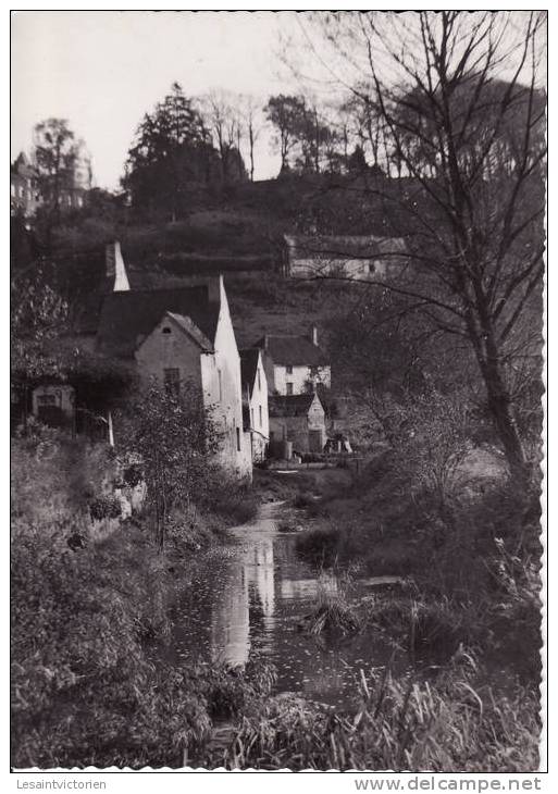
<svg viewBox="0 0 558 794">
<path fill-rule="evenodd" d="M 172 766 L 200 757 L 211 716 L 253 708 L 273 671 L 165 661 L 174 583 L 141 528 L 103 541 L 87 506 L 104 445 L 32 424 L 12 454 L 12 764 Z M 48 455 L 45 455 L 46 447 Z M 79 532 L 86 543 L 72 548 Z"/>
</svg>

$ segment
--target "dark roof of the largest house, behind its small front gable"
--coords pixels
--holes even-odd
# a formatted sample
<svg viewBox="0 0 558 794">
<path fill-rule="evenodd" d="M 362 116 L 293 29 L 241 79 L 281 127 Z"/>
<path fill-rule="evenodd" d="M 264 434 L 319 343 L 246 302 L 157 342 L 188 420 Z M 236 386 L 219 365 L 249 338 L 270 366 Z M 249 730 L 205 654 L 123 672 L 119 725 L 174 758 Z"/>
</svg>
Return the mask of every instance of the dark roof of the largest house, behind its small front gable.
<svg viewBox="0 0 558 794">
<path fill-rule="evenodd" d="M 165 312 L 189 318 L 213 345 L 219 305 L 210 302 L 207 286 L 111 293 L 104 298 L 97 331 L 100 352 L 131 358 L 141 337 Z"/>
</svg>

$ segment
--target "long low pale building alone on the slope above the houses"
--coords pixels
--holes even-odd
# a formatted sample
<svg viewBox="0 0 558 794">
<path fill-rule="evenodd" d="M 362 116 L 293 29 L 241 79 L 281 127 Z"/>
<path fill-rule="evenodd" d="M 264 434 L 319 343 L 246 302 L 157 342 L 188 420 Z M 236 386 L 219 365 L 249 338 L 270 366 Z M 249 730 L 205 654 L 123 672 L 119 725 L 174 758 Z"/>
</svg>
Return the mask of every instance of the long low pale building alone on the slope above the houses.
<svg viewBox="0 0 558 794">
<path fill-rule="evenodd" d="M 408 265 L 406 251 L 401 237 L 285 235 L 283 274 L 352 281 L 399 277 Z"/>
</svg>

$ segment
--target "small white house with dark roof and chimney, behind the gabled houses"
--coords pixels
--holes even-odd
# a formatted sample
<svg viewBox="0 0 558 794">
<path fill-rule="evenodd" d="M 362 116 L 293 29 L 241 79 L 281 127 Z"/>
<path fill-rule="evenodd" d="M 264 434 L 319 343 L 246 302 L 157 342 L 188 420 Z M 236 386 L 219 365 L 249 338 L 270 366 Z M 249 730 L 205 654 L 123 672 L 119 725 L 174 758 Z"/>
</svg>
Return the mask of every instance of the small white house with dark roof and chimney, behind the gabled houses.
<svg viewBox="0 0 558 794">
<path fill-rule="evenodd" d="M 332 367 L 318 344 L 318 328 L 308 336 L 265 334 L 257 346 L 262 351 L 270 394 L 297 395 L 331 388 Z"/>
</svg>

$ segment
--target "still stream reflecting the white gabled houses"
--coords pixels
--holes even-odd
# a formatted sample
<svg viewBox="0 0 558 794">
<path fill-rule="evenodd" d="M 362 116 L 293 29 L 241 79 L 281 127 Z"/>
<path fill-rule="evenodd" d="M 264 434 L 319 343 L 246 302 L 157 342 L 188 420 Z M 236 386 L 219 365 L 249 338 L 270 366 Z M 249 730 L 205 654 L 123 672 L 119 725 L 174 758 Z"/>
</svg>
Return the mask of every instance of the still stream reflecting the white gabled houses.
<svg viewBox="0 0 558 794">
<path fill-rule="evenodd" d="M 234 545 L 201 558 L 178 597 L 173 654 L 183 661 L 232 666 L 257 654 L 275 666 L 277 694 L 348 707 L 357 697 L 359 669 L 384 668 L 394 648 L 375 632 L 334 642 L 300 630 L 301 618 L 315 606 L 319 573 L 297 556 L 296 534 L 277 531 L 283 511 L 280 504 L 263 505 L 256 521 L 230 531 Z M 393 581 L 358 580 L 357 593 L 370 594 Z M 337 586 L 334 576 L 326 586 Z"/>
</svg>

